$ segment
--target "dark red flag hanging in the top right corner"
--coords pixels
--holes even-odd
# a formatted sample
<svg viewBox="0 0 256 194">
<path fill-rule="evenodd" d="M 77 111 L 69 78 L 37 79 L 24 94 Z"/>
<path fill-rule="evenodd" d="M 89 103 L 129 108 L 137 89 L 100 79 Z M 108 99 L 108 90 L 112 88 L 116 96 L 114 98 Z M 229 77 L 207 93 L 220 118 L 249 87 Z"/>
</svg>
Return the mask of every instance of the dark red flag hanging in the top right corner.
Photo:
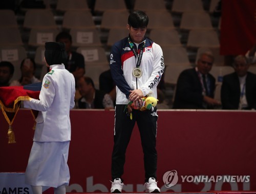
<svg viewBox="0 0 256 194">
<path fill-rule="evenodd" d="M 256 1 L 222 0 L 221 55 L 245 54 L 256 40 Z"/>
</svg>

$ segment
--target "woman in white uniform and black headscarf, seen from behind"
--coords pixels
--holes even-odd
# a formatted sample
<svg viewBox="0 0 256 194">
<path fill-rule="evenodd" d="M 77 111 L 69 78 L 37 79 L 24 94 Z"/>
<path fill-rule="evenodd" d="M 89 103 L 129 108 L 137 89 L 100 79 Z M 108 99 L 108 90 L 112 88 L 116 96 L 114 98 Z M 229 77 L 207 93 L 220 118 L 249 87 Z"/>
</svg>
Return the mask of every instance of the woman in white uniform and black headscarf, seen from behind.
<svg viewBox="0 0 256 194">
<path fill-rule="evenodd" d="M 67 59 L 65 44 L 46 42 L 45 48 L 50 72 L 42 80 L 39 100 L 24 101 L 24 107 L 39 111 L 25 177 L 34 194 L 41 194 L 42 187 L 54 187 L 56 194 L 65 194 L 70 180 L 67 161 L 75 79 L 63 64 Z"/>
</svg>

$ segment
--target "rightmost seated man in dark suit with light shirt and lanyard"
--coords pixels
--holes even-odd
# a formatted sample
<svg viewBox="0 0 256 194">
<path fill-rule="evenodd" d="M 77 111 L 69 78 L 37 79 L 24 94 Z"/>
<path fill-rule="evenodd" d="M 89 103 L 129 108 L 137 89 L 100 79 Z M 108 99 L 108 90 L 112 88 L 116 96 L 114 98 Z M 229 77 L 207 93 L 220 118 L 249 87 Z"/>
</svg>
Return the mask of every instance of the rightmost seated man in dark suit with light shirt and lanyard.
<svg viewBox="0 0 256 194">
<path fill-rule="evenodd" d="M 248 60 L 243 55 L 234 58 L 234 73 L 223 77 L 221 87 L 222 109 L 256 109 L 256 75 L 248 72 Z"/>
</svg>

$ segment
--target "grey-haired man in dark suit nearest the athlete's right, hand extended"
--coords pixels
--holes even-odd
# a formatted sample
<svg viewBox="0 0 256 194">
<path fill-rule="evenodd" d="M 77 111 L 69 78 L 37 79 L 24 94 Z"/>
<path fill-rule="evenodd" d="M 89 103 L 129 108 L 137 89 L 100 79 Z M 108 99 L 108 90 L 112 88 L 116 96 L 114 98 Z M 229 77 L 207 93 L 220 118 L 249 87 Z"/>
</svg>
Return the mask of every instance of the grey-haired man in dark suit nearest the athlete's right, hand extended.
<svg viewBox="0 0 256 194">
<path fill-rule="evenodd" d="M 209 71 L 214 62 L 211 53 L 201 53 L 196 68 L 181 72 L 173 109 L 212 109 L 220 102 L 214 99 L 215 78 Z"/>
</svg>

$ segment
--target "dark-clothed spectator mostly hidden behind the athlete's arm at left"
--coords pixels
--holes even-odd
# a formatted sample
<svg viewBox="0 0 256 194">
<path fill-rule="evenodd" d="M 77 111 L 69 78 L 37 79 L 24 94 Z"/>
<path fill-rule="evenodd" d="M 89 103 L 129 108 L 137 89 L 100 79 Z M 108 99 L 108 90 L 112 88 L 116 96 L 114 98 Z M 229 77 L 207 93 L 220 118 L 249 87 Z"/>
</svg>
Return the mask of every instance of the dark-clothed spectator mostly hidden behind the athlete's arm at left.
<svg viewBox="0 0 256 194">
<path fill-rule="evenodd" d="M 110 70 L 104 71 L 99 76 L 99 90 L 108 93 L 113 100 L 116 102 L 116 84 L 112 78 Z"/>
</svg>

